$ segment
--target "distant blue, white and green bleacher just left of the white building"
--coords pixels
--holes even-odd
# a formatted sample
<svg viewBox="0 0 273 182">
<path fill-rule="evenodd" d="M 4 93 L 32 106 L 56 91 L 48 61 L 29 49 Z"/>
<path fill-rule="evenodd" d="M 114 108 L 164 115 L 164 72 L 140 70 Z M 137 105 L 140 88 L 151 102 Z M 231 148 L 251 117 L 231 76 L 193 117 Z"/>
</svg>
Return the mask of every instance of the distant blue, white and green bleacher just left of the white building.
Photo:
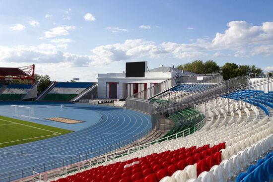
<svg viewBox="0 0 273 182">
<path fill-rule="evenodd" d="M 60 82 L 43 98 L 46 101 L 68 101 L 91 87 L 92 82 Z"/>
</svg>

